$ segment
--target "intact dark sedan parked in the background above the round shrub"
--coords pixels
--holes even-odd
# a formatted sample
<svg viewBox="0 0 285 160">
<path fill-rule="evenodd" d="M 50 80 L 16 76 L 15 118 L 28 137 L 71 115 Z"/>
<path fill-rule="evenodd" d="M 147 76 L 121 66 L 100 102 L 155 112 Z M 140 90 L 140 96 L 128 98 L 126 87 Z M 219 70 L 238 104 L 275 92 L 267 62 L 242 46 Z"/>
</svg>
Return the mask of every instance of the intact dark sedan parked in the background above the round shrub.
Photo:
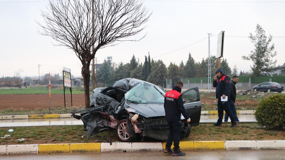
<svg viewBox="0 0 285 160">
<path fill-rule="evenodd" d="M 284 86 L 276 82 L 262 82 L 259 85 L 253 87 L 253 91 L 262 91 L 262 92 L 281 93 L 283 90 Z"/>
</svg>

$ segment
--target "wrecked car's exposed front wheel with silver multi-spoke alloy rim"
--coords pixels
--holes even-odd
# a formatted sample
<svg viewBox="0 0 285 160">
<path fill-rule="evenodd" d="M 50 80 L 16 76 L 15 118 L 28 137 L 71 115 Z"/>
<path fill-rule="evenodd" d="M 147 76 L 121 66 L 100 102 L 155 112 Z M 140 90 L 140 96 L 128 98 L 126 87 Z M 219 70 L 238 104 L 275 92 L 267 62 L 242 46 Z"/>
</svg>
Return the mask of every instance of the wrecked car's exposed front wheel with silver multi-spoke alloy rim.
<svg viewBox="0 0 285 160">
<path fill-rule="evenodd" d="M 128 127 L 127 119 L 121 119 L 116 126 L 116 136 L 122 142 L 132 142 L 133 141 L 133 133 L 129 133 L 133 131 L 133 128 Z"/>
</svg>

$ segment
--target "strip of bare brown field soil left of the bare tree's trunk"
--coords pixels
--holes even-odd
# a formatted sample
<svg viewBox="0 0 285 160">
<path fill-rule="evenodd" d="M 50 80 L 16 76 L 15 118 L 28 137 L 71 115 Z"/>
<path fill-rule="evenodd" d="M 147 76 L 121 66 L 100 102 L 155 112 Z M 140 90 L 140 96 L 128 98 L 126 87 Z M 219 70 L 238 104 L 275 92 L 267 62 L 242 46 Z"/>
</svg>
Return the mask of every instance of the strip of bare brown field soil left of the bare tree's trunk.
<svg viewBox="0 0 285 160">
<path fill-rule="evenodd" d="M 71 106 L 71 96 L 65 95 L 66 106 Z M 85 106 L 84 94 L 72 95 L 73 106 Z M 64 95 L 54 94 L 50 97 L 50 107 L 64 106 Z M 33 95 L 0 95 L 0 109 L 44 109 L 48 108 L 46 94 Z"/>
</svg>

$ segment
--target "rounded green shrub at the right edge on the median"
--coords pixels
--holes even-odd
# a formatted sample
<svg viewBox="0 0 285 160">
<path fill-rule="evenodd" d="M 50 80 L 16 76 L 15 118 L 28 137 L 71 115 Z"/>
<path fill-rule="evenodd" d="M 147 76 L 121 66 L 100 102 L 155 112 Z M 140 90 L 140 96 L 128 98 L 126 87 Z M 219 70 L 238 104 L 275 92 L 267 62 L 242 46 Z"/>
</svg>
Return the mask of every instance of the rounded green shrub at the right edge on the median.
<svg viewBox="0 0 285 160">
<path fill-rule="evenodd" d="M 285 95 L 274 94 L 263 99 L 254 113 L 258 124 L 268 128 L 285 127 Z"/>
</svg>

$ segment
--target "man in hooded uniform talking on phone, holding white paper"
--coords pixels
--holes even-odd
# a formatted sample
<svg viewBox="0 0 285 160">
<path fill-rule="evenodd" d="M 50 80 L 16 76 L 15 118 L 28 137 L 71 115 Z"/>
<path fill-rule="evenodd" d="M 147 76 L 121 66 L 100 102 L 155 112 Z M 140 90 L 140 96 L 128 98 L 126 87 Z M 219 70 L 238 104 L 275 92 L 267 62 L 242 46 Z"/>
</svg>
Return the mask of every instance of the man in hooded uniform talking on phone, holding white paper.
<svg viewBox="0 0 285 160">
<path fill-rule="evenodd" d="M 213 87 L 216 87 L 216 98 L 218 99 L 217 104 L 218 104 L 218 116 L 219 116 L 217 123 L 213 124 L 214 126 L 219 126 L 219 127 L 222 126 L 224 110 L 227 113 L 227 115 L 229 115 L 229 117 L 231 118 L 231 127 L 237 126 L 237 122 L 235 121 L 233 112 L 229 107 L 229 103 L 228 101 L 225 101 L 226 98 L 228 99 L 230 98 L 229 83 L 230 83 L 230 77 L 225 75 L 224 71 L 221 68 L 219 68 L 216 71 L 216 76 L 214 77 L 213 81 Z"/>
</svg>

